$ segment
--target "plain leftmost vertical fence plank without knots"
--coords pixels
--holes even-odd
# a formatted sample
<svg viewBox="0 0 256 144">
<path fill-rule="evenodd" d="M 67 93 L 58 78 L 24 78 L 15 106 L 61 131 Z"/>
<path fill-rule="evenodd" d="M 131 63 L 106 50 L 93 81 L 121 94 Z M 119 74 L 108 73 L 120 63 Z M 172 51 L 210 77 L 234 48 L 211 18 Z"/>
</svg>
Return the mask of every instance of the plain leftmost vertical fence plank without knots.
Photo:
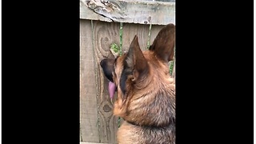
<svg viewBox="0 0 256 144">
<path fill-rule="evenodd" d="M 80 20 L 80 128 L 81 141 L 99 142 L 92 30 Z"/>
</svg>

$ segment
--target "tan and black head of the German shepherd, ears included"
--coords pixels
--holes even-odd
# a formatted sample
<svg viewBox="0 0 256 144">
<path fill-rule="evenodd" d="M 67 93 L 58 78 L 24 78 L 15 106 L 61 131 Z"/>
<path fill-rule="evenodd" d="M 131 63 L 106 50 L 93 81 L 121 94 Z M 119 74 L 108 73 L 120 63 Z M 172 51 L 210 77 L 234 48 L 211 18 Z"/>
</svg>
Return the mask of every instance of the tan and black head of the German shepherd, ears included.
<svg viewBox="0 0 256 144">
<path fill-rule="evenodd" d="M 103 73 L 110 80 L 110 97 L 118 91 L 114 114 L 128 115 L 129 110 L 122 111 L 122 107 L 130 105 L 131 99 L 138 99 L 151 89 L 162 89 L 161 86 L 170 82 L 168 62 L 174 58 L 174 45 L 175 26 L 168 24 L 160 30 L 149 50 L 142 52 L 135 35 L 126 54 L 100 62 Z M 150 98 L 145 100 L 150 101 Z"/>
</svg>

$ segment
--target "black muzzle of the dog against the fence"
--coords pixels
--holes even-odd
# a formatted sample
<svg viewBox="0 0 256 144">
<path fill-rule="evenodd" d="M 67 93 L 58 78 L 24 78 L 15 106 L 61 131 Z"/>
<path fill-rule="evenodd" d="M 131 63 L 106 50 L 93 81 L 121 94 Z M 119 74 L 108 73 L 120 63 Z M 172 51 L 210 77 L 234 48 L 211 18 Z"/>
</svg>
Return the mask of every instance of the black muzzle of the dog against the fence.
<svg viewBox="0 0 256 144">
<path fill-rule="evenodd" d="M 106 78 L 113 82 L 112 72 L 114 71 L 114 59 L 105 58 L 100 62 L 100 65 L 102 66 Z"/>
</svg>

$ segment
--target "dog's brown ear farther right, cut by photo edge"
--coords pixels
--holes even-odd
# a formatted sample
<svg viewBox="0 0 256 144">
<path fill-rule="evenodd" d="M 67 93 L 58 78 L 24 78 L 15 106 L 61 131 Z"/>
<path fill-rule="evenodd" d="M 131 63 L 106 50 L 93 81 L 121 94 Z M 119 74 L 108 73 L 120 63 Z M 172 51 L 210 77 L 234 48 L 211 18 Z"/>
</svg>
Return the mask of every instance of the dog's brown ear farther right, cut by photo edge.
<svg viewBox="0 0 256 144">
<path fill-rule="evenodd" d="M 154 51 L 162 61 L 169 62 L 174 58 L 174 45 L 175 26 L 168 24 L 160 30 L 149 50 Z"/>
</svg>

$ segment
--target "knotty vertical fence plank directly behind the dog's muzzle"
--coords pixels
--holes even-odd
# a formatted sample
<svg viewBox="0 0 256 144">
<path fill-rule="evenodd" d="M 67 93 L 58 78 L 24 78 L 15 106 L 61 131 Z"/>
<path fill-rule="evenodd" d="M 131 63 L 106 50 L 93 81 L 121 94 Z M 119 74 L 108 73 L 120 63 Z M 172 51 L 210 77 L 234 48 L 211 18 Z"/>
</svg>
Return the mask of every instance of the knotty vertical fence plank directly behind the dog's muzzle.
<svg viewBox="0 0 256 144">
<path fill-rule="evenodd" d="M 116 143 L 116 132 L 118 130 L 118 118 L 113 115 L 113 102 L 108 93 L 108 80 L 99 66 L 103 58 L 114 57 L 110 52 L 110 44 L 120 45 L 119 23 L 115 22 L 93 22 L 94 28 L 94 55 L 95 72 L 98 83 L 98 114 L 100 142 Z"/>
</svg>

